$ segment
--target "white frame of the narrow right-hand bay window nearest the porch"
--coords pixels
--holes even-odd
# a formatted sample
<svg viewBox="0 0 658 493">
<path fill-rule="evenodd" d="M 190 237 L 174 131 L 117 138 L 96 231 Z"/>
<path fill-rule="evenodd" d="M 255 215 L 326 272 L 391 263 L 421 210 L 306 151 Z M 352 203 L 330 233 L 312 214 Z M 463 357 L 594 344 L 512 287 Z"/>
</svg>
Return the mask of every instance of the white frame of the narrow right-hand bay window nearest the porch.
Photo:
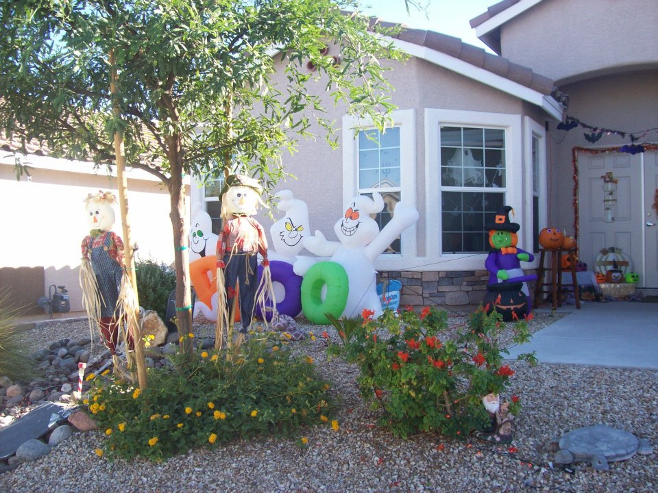
<svg viewBox="0 0 658 493">
<path fill-rule="evenodd" d="M 524 186 L 528 192 L 526 195 L 526 203 L 524 207 L 524 216 L 529 216 L 532 218 L 533 214 L 533 197 L 535 195 L 535 187 L 533 186 L 533 137 L 537 139 L 537 157 L 539 159 L 538 168 L 539 168 L 539 231 L 542 229 L 542 225 L 548 223 L 548 177 L 546 176 L 546 128 L 542 125 L 539 125 L 529 116 L 524 116 L 523 118 L 523 127 L 524 127 L 524 162 L 527 163 L 525 166 L 526 173 L 524 178 Z M 519 246 L 524 250 L 533 251 L 533 242 L 535 232 L 533 231 L 533 222 L 532 220 L 527 223 L 524 222 L 526 229 L 522 231 L 524 235 L 520 234 L 519 236 Z M 521 242 L 521 238 L 528 238 L 524 243 Z M 534 253 L 534 252 L 533 252 Z"/>
</svg>

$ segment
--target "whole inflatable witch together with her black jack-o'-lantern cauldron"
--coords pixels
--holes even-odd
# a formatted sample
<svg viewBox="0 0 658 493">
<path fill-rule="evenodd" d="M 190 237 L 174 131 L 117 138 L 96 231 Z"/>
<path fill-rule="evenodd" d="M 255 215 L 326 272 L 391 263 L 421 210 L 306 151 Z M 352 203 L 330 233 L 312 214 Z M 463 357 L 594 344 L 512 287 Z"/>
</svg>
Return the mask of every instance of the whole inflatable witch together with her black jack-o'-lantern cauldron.
<svg viewBox="0 0 658 493">
<path fill-rule="evenodd" d="M 490 313 L 493 309 L 496 309 L 497 312 L 502 314 L 506 322 L 530 314 L 532 303 L 526 282 L 537 279 L 536 275 L 524 275 L 521 268 L 521 261 L 532 262 L 535 260 L 535 255 L 517 248 L 518 237 L 516 233 L 519 231 L 520 225 L 510 223 L 510 212 L 513 212 L 512 208 L 505 205 L 496 213 L 495 223 L 485 225 L 485 228 L 489 230 L 489 244 L 496 249 L 496 251 L 489 253 L 485 261 L 485 267 L 489 271 L 487 290 L 489 290 L 489 294 L 495 293 L 493 306 L 490 306 L 487 312 Z M 522 283 L 522 286 L 518 286 L 518 283 Z M 512 296 L 513 303 L 500 303 L 502 300 L 507 299 L 504 293 L 506 288 L 518 293 L 518 296 L 524 294 L 525 296 L 522 297 L 526 299 Z"/>
</svg>

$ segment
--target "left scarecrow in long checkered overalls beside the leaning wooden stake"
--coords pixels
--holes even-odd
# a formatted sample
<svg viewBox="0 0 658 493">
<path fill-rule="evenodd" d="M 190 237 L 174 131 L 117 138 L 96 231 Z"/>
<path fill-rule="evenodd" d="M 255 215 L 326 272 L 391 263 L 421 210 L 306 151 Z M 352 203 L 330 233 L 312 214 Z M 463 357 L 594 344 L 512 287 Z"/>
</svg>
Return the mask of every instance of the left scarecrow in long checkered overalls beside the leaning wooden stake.
<svg viewBox="0 0 658 493">
<path fill-rule="evenodd" d="M 132 311 L 128 307 L 134 305 L 135 300 L 123 264 L 123 241 L 112 231 L 112 205 L 117 199 L 112 192 L 101 190 L 88 194 L 84 202 L 91 230 L 82 240 L 82 299 L 89 323 L 99 328 L 103 343 L 110 350 L 114 373 L 124 377 L 127 375 L 117 355 L 117 345 L 121 325 L 125 323 L 126 314 Z M 124 338 L 126 353 L 132 353 L 134 340 L 125 328 Z"/>
</svg>

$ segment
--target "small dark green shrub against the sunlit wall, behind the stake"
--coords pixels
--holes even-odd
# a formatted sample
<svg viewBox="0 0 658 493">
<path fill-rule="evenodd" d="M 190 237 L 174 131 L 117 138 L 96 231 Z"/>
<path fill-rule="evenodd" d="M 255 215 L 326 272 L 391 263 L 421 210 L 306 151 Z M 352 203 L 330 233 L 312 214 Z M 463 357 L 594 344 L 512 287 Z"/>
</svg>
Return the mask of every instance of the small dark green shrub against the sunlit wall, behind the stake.
<svg viewBox="0 0 658 493">
<path fill-rule="evenodd" d="M 143 260 L 135 264 L 135 273 L 139 305 L 145 310 L 155 310 L 164 320 L 169 293 L 176 288 L 176 271 L 164 263 Z"/>
</svg>

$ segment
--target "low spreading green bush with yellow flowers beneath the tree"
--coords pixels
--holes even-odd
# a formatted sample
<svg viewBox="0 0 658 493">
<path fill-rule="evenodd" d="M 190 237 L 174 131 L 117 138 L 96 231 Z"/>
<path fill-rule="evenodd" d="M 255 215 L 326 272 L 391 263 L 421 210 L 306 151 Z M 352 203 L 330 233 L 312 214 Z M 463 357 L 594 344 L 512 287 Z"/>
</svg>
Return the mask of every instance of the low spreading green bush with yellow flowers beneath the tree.
<svg viewBox="0 0 658 493">
<path fill-rule="evenodd" d="M 106 433 L 108 456 L 170 457 L 255 435 L 292 435 L 329 421 L 329 384 L 310 357 L 292 357 L 282 342 L 252 338 L 240 353 L 197 351 L 149 370 L 149 387 L 97 378 L 87 401 Z M 337 422 L 332 423 L 337 428 Z M 303 440 L 302 440 L 303 442 Z"/>
</svg>

